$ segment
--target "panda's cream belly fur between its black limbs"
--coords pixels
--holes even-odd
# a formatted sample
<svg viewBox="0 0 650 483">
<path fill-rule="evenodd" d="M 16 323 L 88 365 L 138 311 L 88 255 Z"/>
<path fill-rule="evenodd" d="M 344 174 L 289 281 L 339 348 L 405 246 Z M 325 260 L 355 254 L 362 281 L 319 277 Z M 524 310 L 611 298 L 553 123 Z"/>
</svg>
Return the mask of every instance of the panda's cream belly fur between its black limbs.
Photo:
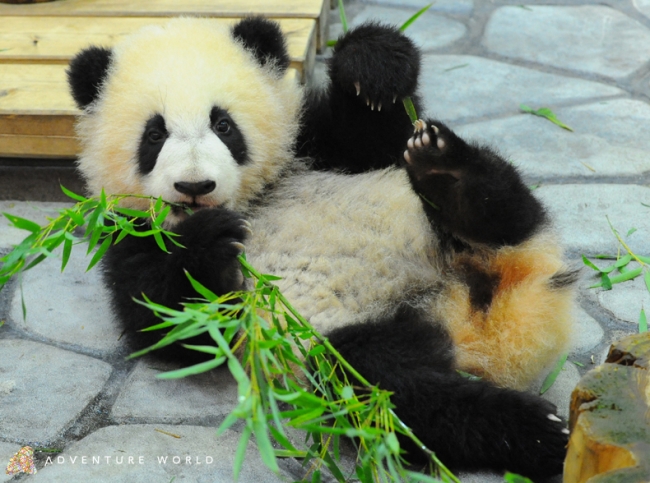
<svg viewBox="0 0 650 483">
<path fill-rule="evenodd" d="M 436 238 L 403 170 L 294 176 L 251 222 L 249 261 L 282 277 L 323 333 L 417 303 L 440 283 Z"/>
</svg>

